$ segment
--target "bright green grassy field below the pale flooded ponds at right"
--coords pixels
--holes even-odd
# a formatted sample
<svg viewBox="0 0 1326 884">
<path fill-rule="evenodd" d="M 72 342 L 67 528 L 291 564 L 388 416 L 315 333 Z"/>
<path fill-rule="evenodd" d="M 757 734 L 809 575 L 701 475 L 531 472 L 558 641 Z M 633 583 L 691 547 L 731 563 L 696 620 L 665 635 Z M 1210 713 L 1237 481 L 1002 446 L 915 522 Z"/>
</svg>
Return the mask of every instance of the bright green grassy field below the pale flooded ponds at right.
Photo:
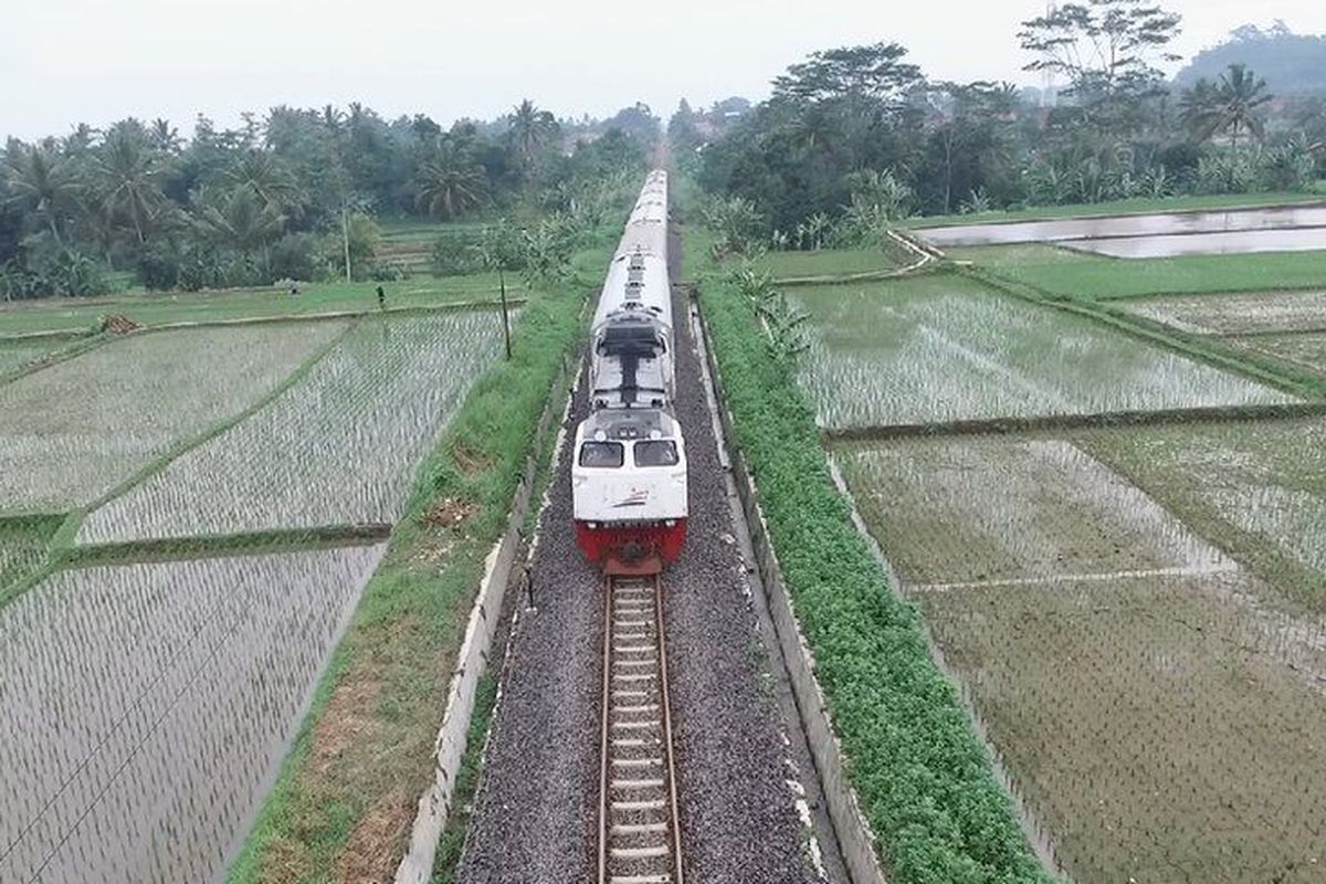
<svg viewBox="0 0 1326 884">
<path fill-rule="evenodd" d="M 1326 250 L 1126 260 L 1033 244 L 965 247 L 948 256 L 1063 298 L 1310 289 L 1326 282 Z"/>
</svg>

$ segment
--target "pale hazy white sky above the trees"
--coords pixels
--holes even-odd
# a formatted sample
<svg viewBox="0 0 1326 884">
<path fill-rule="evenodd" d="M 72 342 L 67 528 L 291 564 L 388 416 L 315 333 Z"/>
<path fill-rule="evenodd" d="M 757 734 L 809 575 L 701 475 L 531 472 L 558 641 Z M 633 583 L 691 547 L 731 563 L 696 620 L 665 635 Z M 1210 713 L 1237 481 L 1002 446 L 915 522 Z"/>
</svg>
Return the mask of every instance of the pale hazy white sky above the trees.
<svg viewBox="0 0 1326 884">
<path fill-rule="evenodd" d="M 1163 0 L 1183 54 L 1253 20 L 1326 32 L 1322 0 Z M 9 0 L 0 28 L 0 137 L 126 117 L 361 101 L 386 117 L 495 117 L 522 97 L 558 115 L 635 102 L 664 117 L 743 94 L 814 49 L 896 40 L 927 74 L 1013 80 L 1018 21 L 1041 0 Z"/>
</svg>

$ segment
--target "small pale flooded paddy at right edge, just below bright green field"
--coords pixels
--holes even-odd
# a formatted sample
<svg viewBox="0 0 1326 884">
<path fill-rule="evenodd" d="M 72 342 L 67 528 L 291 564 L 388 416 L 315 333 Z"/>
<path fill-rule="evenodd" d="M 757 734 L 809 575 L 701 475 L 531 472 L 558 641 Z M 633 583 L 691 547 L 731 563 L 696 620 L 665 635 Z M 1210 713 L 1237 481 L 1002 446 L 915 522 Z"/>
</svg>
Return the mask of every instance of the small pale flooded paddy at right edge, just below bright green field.
<svg viewBox="0 0 1326 884">
<path fill-rule="evenodd" d="M 1326 331 L 1326 290 L 1139 298 L 1131 313 L 1192 334 Z"/>
</svg>

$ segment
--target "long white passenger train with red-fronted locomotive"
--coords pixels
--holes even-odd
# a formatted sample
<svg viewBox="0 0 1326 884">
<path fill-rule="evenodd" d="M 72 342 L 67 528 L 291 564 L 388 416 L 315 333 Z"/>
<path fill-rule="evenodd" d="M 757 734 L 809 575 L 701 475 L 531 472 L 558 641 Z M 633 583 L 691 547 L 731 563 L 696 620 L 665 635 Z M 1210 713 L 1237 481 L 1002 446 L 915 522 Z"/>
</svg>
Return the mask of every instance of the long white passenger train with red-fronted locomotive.
<svg viewBox="0 0 1326 884">
<path fill-rule="evenodd" d="M 575 542 L 605 574 L 658 574 L 686 543 L 686 441 L 674 410 L 676 337 L 668 178 L 648 174 L 599 293 L 589 416 L 575 428 Z"/>
</svg>

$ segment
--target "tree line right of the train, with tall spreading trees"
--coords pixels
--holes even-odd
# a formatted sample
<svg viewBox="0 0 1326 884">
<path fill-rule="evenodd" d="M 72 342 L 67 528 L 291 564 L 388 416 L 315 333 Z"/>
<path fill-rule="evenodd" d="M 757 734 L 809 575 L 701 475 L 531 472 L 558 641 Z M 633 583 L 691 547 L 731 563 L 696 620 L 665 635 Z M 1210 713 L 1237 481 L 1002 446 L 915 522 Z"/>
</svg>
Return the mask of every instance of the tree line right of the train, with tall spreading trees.
<svg viewBox="0 0 1326 884">
<path fill-rule="evenodd" d="M 1321 97 L 1276 99 L 1232 64 L 1174 89 L 1159 64 L 1180 19 L 1083 0 L 1024 21 L 1046 90 L 927 78 L 896 42 L 817 52 L 719 138 L 679 109 L 668 137 L 725 197 L 725 244 L 812 248 L 878 237 L 899 216 L 1138 196 L 1307 190 L 1326 175 Z"/>
</svg>

